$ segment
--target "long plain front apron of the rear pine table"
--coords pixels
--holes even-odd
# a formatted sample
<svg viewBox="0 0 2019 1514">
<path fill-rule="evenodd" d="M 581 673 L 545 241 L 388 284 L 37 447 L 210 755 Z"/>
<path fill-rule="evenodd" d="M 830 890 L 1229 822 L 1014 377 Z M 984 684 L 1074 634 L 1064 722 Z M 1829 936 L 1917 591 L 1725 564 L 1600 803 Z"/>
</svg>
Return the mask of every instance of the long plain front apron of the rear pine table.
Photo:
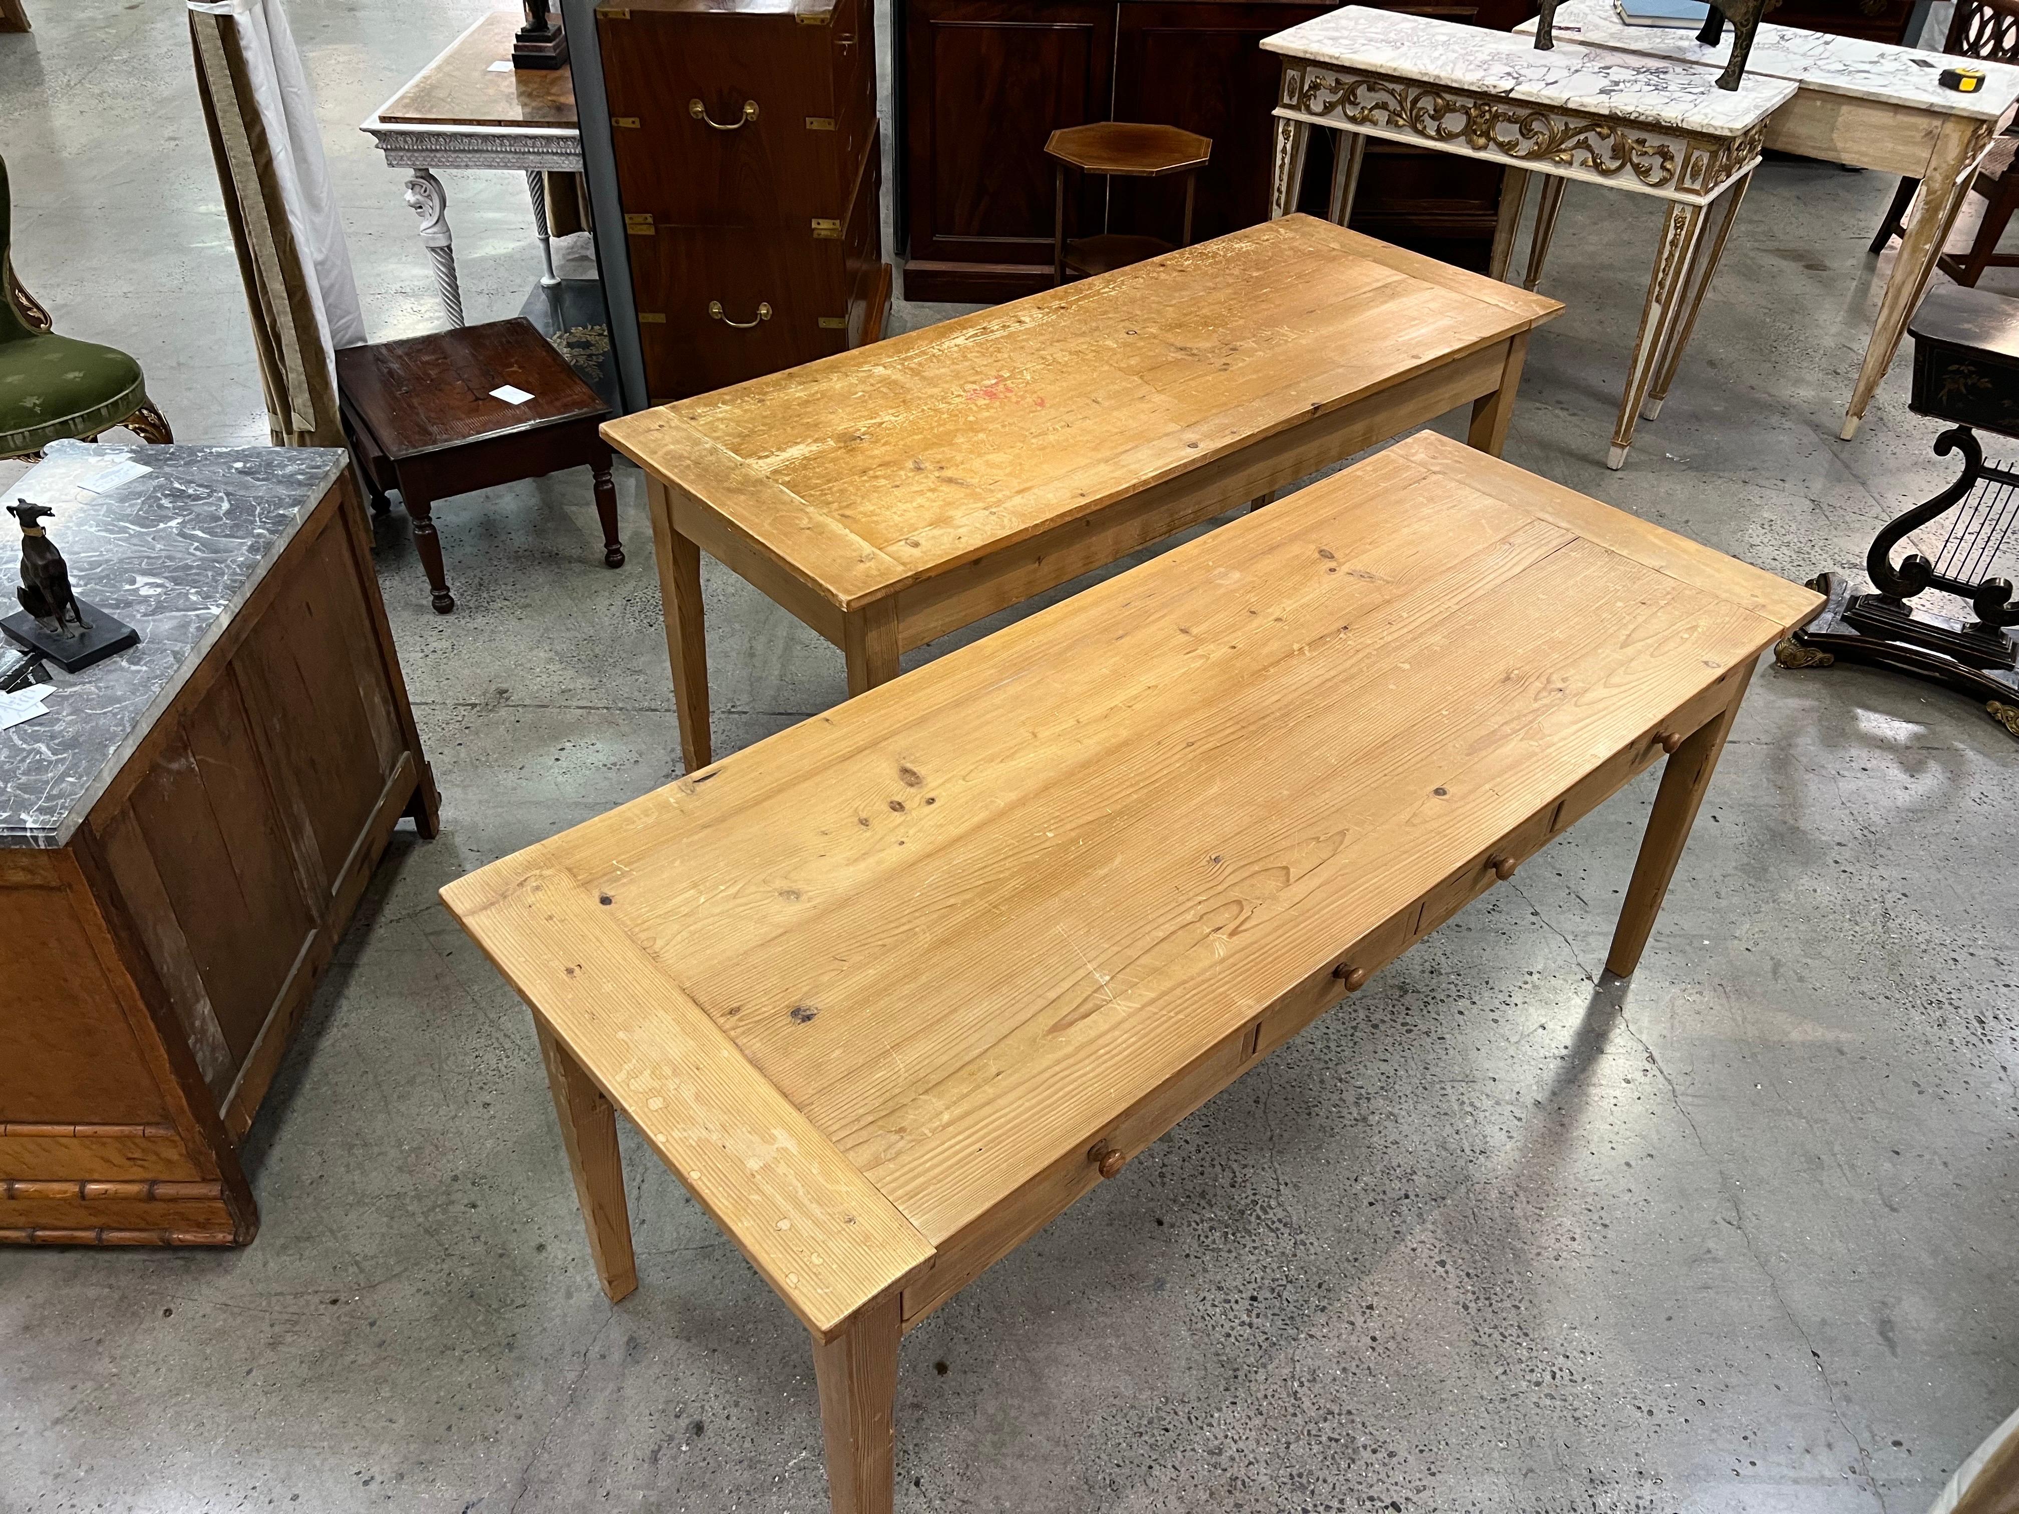
<svg viewBox="0 0 2019 1514">
<path fill-rule="evenodd" d="M 925 646 L 1080 573 L 1121 561 L 1173 531 L 1209 521 L 1268 491 L 1286 489 L 1331 462 L 1494 394 L 1506 369 L 1508 341 L 1512 337 L 900 589 L 898 648 Z"/>
</svg>

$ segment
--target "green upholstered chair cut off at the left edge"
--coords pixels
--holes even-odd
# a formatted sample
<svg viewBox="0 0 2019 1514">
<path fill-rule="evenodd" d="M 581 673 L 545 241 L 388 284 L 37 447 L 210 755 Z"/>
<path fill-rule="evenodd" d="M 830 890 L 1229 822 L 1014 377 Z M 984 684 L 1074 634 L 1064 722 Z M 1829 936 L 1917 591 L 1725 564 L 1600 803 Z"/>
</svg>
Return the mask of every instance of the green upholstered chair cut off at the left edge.
<svg viewBox="0 0 2019 1514">
<path fill-rule="evenodd" d="M 113 426 L 143 442 L 174 442 L 139 363 L 117 347 L 59 337 L 48 313 L 14 283 L 10 220 L 0 159 L 0 458 L 40 456 L 50 442 L 89 442 Z"/>
</svg>

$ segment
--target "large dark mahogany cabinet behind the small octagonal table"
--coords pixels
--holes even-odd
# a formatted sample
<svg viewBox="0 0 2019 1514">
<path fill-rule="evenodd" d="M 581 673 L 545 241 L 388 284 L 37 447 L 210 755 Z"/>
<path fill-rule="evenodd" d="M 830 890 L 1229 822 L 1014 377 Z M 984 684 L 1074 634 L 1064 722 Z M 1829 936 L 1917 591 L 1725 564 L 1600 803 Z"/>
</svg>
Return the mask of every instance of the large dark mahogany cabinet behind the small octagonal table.
<svg viewBox="0 0 2019 1514">
<path fill-rule="evenodd" d="M 1498 28 L 1532 14 L 1526 0 L 1395 8 Z M 1280 61 L 1260 42 L 1326 10 L 1280 0 L 896 0 L 905 295 L 999 301 L 1050 285 L 1044 141 L 1084 121 L 1155 121 L 1213 139 L 1195 236 L 1264 220 Z M 1320 198 L 1326 151 L 1318 143 L 1306 180 Z M 1183 186 L 1090 178 L 1076 194 L 1082 234 L 1177 238 Z M 1498 204 L 1496 168 L 1377 145 L 1353 224 L 1484 268 Z"/>
</svg>

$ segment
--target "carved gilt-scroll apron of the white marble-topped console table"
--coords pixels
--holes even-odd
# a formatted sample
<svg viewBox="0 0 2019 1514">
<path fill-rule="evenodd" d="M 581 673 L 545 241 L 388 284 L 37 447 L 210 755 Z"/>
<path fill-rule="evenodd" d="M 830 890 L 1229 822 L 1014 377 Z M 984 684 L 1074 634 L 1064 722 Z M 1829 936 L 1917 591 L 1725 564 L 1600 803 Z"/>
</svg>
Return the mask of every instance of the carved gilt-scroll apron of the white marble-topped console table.
<svg viewBox="0 0 2019 1514">
<path fill-rule="evenodd" d="M 1718 137 L 1609 119 L 1504 95 L 1284 59 L 1282 121 L 1363 131 L 1500 168 L 1704 204 L 1761 155 L 1767 121 Z M 1577 161 L 1583 159 L 1583 161 Z"/>
</svg>

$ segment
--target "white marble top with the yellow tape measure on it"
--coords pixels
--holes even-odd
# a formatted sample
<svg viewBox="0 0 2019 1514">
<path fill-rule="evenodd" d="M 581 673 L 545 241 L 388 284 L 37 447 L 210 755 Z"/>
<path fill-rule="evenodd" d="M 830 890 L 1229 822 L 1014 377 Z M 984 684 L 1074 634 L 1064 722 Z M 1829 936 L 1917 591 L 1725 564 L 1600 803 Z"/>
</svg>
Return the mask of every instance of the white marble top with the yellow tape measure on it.
<svg viewBox="0 0 2019 1514">
<path fill-rule="evenodd" d="M 1532 32 L 1534 22 L 1522 22 L 1518 30 Z M 1730 26 L 1724 28 L 1724 40 L 1718 46 L 1704 46 L 1696 40 L 1694 30 L 1627 26 L 1613 10 L 1613 0 L 1567 0 L 1557 10 L 1557 46 L 1563 46 L 1565 40 L 1712 69 L 1722 69 L 1732 55 Z M 1942 89 L 1942 69 L 1950 63 L 1983 69 L 1985 87 L 1975 95 Z M 1825 95 L 1851 95 L 1886 105 L 1914 105 L 1944 115 L 1981 119 L 1997 119 L 2011 109 L 2013 101 L 2019 101 L 2019 67 L 2009 63 L 1948 59 L 1944 52 L 1922 52 L 1914 46 L 1864 42 L 1855 36 L 1805 32 L 1769 22 L 1761 22 L 1752 36 L 1746 83 L 1752 79 L 1789 79 L 1803 89 Z"/>
</svg>

